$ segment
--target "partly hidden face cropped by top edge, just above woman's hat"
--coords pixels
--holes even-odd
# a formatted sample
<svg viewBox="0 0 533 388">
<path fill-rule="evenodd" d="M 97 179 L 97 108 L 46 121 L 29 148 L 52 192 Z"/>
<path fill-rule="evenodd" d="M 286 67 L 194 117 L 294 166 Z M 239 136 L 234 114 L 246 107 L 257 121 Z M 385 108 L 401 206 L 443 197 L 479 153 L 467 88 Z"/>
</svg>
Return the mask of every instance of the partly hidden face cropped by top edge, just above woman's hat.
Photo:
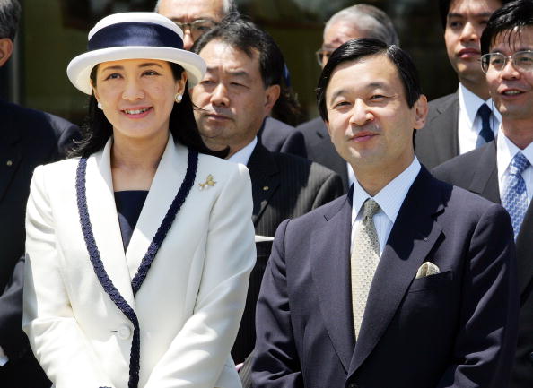
<svg viewBox="0 0 533 388">
<path fill-rule="evenodd" d="M 198 20 L 223 20 L 223 0 L 162 0 L 158 13 L 173 22 L 190 23 Z M 195 38 L 190 28 L 183 31 L 183 47 L 190 50 Z"/>
</svg>

